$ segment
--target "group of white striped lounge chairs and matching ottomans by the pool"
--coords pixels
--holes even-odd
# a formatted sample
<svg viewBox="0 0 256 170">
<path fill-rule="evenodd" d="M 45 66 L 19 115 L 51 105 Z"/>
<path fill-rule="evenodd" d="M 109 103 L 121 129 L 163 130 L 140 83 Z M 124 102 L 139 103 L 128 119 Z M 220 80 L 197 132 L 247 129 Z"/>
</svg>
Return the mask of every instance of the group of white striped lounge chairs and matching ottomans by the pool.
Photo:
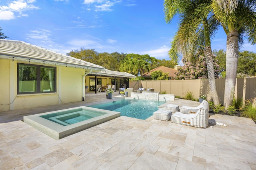
<svg viewBox="0 0 256 170">
<path fill-rule="evenodd" d="M 180 110 L 180 111 L 178 111 Z M 204 100 L 197 107 L 168 104 L 164 109 L 158 109 L 153 114 L 154 119 L 171 121 L 180 125 L 206 128 L 209 119 L 209 103 Z"/>
</svg>

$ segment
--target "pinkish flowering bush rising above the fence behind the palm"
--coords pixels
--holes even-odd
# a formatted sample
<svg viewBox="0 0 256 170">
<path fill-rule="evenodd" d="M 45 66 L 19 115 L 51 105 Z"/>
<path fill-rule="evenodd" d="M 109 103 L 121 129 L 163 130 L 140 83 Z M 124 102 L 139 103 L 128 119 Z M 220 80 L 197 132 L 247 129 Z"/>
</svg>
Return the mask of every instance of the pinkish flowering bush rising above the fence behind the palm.
<svg viewBox="0 0 256 170">
<path fill-rule="evenodd" d="M 220 66 L 217 64 L 218 60 L 213 58 L 214 75 L 218 78 L 220 75 Z M 178 72 L 175 73 L 176 80 L 188 80 L 188 79 L 206 79 L 208 78 L 206 58 L 204 56 L 199 56 L 196 63 L 185 62 L 184 66 L 178 68 Z"/>
</svg>

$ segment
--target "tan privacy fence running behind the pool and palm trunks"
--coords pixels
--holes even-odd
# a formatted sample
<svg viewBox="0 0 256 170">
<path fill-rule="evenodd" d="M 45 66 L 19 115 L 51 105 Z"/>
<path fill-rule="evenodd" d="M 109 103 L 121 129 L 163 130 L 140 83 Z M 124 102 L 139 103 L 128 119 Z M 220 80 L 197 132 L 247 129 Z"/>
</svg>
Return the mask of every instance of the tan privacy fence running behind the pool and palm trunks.
<svg viewBox="0 0 256 170">
<path fill-rule="evenodd" d="M 215 82 L 220 102 L 223 103 L 225 78 L 215 79 Z M 155 92 L 175 94 L 181 98 L 186 95 L 186 92 L 192 92 L 194 98 L 206 95 L 208 101 L 212 100 L 208 79 L 129 81 L 129 87 L 134 90 L 138 88 L 153 88 Z M 243 102 L 251 98 L 256 98 L 256 78 L 237 78 L 234 96 L 236 99 L 242 98 Z"/>
</svg>

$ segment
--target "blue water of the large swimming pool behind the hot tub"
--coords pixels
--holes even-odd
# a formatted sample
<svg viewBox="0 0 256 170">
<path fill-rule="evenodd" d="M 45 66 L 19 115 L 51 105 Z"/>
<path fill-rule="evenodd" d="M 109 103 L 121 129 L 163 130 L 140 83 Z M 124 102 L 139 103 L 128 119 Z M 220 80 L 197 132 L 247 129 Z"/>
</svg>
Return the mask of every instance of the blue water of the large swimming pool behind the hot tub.
<svg viewBox="0 0 256 170">
<path fill-rule="evenodd" d="M 152 116 L 154 111 L 158 110 L 158 106 L 164 103 L 165 102 L 150 100 L 124 99 L 120 101 L 108 102 L 105 104 L 92 105 L 89 107 L 118 111 L 121 113 L 121 116 L 128 116 L 145 120 Z"/>
</svg>

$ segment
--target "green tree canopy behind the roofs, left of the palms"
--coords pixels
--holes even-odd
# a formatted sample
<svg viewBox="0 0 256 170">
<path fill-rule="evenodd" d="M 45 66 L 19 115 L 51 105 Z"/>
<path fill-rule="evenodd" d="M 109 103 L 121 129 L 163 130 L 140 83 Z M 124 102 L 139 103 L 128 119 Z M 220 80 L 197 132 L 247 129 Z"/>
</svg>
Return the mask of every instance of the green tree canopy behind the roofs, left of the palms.
<svg viewBox="0 0 256 170">
<path fill-rule="evenodd" d="M 85 49 L 84 47 L 81 47 L 80 50 L 72 50 L 67 55 L 104 66 L 109 70 L 128 72 L 136 76 L 158 66 L 174 68 L 177 65 L 174 61 L 156 59 L 147 54 L 98 53 L 95 49 Z"/>
</svg>

